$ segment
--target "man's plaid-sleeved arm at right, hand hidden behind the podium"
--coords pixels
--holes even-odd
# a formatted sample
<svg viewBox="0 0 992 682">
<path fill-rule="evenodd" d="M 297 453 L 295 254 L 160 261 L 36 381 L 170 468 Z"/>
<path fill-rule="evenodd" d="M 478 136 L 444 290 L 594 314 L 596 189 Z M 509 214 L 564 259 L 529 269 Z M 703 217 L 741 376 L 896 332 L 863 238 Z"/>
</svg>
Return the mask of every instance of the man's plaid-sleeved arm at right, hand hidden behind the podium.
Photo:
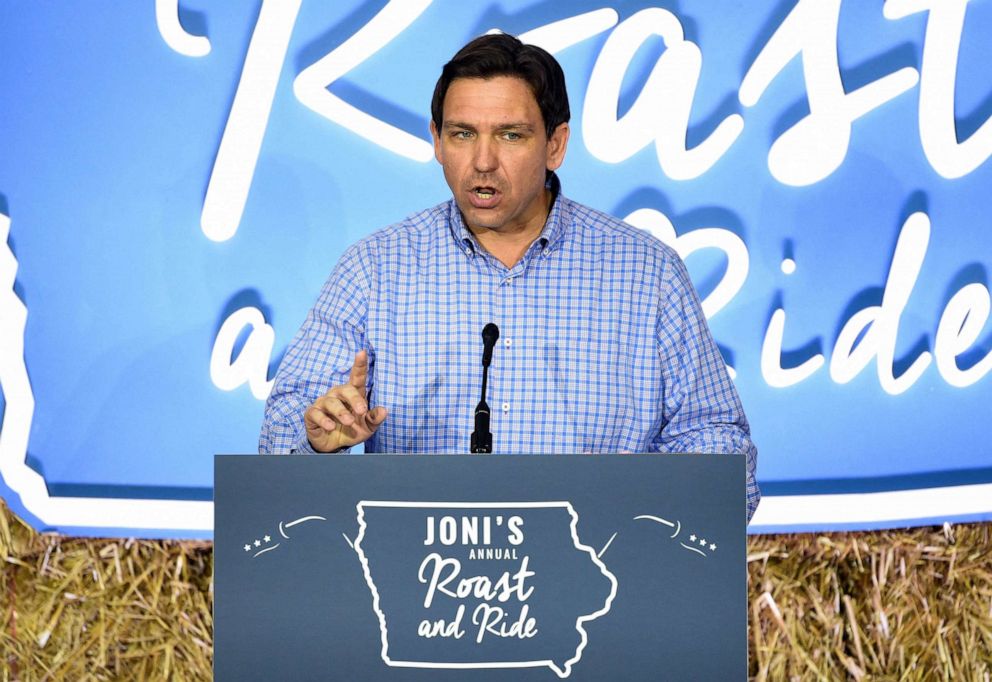
<svg viewBox="0 0 992 682">
<path fill-rule="evenodd" d="M 665 380 L 660 449 L 745 455 L 750 521 L 761 499 L 755 480 L 758 450 L 685 265 L 671 255 L 657 324 Z"/>
</svg>

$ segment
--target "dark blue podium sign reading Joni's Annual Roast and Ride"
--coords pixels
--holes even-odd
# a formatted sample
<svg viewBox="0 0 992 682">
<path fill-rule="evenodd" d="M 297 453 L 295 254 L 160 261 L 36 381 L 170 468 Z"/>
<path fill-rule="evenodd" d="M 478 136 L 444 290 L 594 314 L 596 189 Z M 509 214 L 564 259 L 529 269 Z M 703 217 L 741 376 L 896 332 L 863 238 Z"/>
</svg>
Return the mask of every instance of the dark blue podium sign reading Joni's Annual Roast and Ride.
<svg viewBox="0 0 992 682">
<path fill-rule="evenodd" d="M 218 680 L 726 680 L 732 455 L 220 456 Z"/>
</svg>

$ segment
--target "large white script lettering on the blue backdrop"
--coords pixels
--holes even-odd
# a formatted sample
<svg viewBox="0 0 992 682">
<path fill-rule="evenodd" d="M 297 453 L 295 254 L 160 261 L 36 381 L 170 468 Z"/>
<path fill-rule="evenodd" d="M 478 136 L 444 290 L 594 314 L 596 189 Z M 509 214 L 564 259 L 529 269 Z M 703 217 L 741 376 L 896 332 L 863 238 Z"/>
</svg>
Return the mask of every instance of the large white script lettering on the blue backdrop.
<svg viewBox="0 0 992 682">
<path fill-rule="evenodd" d="M 429 141 L 361 111 L 327 88 L 400 35 L 430 4 L 430 0 L 389 2 L 351 38 L 299 74 L 294 82 L 297 98 L 320 115 L 395 154 L 429 162 L 433 158 Z M 801 57 L 810 113 L 771 145 L 768 167 L 772 176 L 790 186 L 810 185 L 829 177 L 846 157 L 854 122 L 917 83 L 920 136 L 934 170 L 946 178 L 957 178 L 987 160 L 992 155 L 992 123 L 986 121 L 963 143 L 957 141 L 954 127 L 955 72 L 966 5 L 967 0 L 888 0 L 884 16 L 891 20 L 930 12 L 922 75 L 913 67 L 905 67 L 845 92 L 837 55 L 841 0 L 798 2 L 759 52 L 738 93 L 745 107 L 756 106 L 786 65 Z M 263 3 L 204 201 L 203 231 L 215 241 L 230 239 L 237 232 L 275 94 L 275 80 L 298 11 L 299 0 Z M 702 52 L 685 39 L 679 18 L 668 10 L 649 8 L 623 22 L 618 20 L 615 10 L 596 10 L 535 28 L 521 37 L 558 51 L 612 28 L 586 89 L 582 134 L 587 149 L 598 160 L 612 164 L 630 158 L 653 142 L 659 167 L 668 177 L 686 180 L 703 175 L 740 136 L 744 117 L 727 116 L 703 142 L 687 149 L 686 131 L 702 68 Z M 666 49 L 630 110 L 618 118 L 624 76 L 637 49 L 651 35 L 660 36 Z M 726 306 L 744 285 L 749 254 L 744 242 L 729 230 L 713 226 L 677 236 L 668 217 L 654 209 L 634 211 L 626 219 L 674 246 L 683 258 L 705 248 L 718 249 L 726 256 L 723 278 L 703 302 L 707 317 Z M 992 371 L 992 354 L 966 370 L 957 364 L 958 356 L 978 339 L 989 315 L 988 289 L 971 283 L 953 296 L 941 315 L 933 356 L 923 352 L 899 377 L 893 374 L 900 314 L 919 275 L 929 239 L 927 216 L 911 216 L 896 246 L 882 304 L 856 312 L 837 339 L 830 358 L 830 377 L 835 382 L 851 381 L 876 358 L 879 384 L 891 395 L 912 386 L 934 358 L 940 376 L 955 387 L 973 384 Z M 257 320 L 251 324 L 249 343 L 237 357 L 231 357 L 231 333 L 236 334 L 248 324 L 246 314 L 246 310 L 239 310 L 223 325 L 215 342 L 210 373 L 215 385 L 224 390 L 250 381 L 253 394 L 264 399 L 263 386 L 270 385 L 264 377 L 271 357 L 260 352 L 266 344 L 255 337 L 264 324 L 261 311 L 254 309 Z M 809 378 L 825 363 L 824 356 L 818 353 L 796 367 L 781 366 L 785 322 L 785 310 L 776 309 L 765 332 L 760 359 L 762 377 L 776 388 Z M 273 342 L 267 343 L 271 351 Z"/>
</svg>

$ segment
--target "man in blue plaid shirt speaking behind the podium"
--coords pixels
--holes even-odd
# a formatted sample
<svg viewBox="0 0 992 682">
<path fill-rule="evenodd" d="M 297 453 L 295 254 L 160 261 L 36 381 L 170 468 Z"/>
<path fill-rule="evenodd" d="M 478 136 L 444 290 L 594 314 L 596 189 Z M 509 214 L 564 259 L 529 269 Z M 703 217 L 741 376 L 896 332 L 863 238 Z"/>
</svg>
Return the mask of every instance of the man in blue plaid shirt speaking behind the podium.
<svg viewBox="0 0 992 682">
<path fill-rule="evenodd" d="M 286 352 L 261 452 L 468 452 L 481 330 L 494 452 L 757 452 L 675 252 L 566 199 L 558 62 L 507 35 L 445 65 L 431 104 L 453 198 L 349 248 Z"/>
</svg>

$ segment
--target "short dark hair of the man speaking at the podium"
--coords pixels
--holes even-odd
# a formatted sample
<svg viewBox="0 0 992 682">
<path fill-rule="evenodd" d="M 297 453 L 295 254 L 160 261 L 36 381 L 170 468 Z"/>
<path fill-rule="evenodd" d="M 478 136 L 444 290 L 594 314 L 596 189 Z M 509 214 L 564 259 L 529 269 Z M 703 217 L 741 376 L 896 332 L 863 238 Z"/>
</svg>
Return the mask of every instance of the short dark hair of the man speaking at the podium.
<svg viewBox="0 0 992 682">
<path fill-rule="evenodd" d="M 458 78 L 496 76 L 515 76 L 530 86 L 541 110 L 548 139 L 571 116 L 565 74 L 558 61 L 536 45 L 525 45 L 511 35 L 495 33 L 471 41 L 444 65 L 431 100 L 435 127 L 441 130 L 444 96 L 452 82 Z"/>
</svg>

